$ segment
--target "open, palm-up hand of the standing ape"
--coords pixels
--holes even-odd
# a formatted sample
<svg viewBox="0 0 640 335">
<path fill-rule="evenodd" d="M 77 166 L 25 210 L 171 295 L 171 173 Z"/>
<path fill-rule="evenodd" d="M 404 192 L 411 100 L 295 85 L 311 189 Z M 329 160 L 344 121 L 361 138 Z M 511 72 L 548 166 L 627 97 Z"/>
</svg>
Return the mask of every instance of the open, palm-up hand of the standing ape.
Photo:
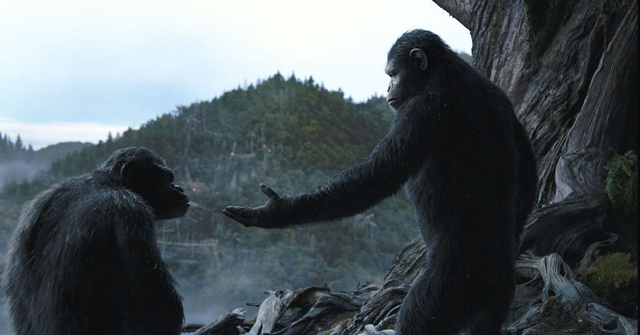
<svg viewBox="0 0 640 335">
<path fill-rule="evenodd" d="M 260 190 L 269 197 L 266 204 L 256 208 L 228 206 L 222 213 L 244 227 L 275 228 L 289 225 L 284 222 L 287 199 L 280 197 L 265 184 L 260 184 Z"/>
</svg>

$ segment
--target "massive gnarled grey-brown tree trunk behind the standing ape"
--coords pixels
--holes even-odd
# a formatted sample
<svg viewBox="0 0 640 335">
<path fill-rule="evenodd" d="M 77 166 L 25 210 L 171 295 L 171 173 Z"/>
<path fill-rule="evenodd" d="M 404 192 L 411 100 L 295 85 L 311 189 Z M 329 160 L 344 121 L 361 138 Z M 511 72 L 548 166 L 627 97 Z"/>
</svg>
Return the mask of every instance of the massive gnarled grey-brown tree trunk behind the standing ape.
<svg viewBox="0 0 640 335">
<path fill-rule="evenodd" d="M 509 95 L 531 136 L 540 209 L 522 250 L 580 261 L 613 232 L 637 262 L 604 187 L 612 155 L 637 152 L 637 0 L 434 2 L 470 28 L 474 67 Z"/>
</svg>

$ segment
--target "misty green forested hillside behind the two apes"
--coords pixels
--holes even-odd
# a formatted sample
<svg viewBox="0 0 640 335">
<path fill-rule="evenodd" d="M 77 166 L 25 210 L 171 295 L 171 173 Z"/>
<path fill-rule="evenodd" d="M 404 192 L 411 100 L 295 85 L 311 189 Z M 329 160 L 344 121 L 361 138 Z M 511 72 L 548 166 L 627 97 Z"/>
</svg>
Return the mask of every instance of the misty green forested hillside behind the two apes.
<svg viewBox="0 0 640 335">
<path fill-rule="evenodd" d="M 203 307 L 221 306 L 211 313 L 222 313 L 261 301 L 263 290 L 324 284 L 352 290 L 380 282 L 417 234 L 404 199 L 389 199 L 345 222 L 270 231 L 245 228 L 221 211 L 230 204 L 263 204 L 260 183 L 280 194 L 316 187 L 364 159 L 392 117 L 383 97 L 355 104 L 312 78 L 275 74 L 70 154 L 31 183 L 6 185 L 0 195 L 3 239 L 15 227 L 20 205 L 35 193 L 95 169 L 115 149 L 144 145 L 166 158 L 193 200 L 188 215 L 162 222 L 158 234 L 186 295 L 188 320 L 190 311 Z"/>
</svg>

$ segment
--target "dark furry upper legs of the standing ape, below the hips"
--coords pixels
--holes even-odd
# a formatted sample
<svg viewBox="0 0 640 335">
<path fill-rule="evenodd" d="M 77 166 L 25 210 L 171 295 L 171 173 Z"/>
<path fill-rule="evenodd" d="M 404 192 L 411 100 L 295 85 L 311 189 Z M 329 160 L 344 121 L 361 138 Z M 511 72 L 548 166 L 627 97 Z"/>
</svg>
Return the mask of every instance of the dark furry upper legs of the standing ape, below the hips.
<svg viewBox="0 0 640 335">
<path fill-rule="evenodd" d="M 413 283 L 398 314 L 397 335 L 502 335 L 515 290 L 513 270 L 467 277 L 445 269 L 429 266 Z"/>
</svg>

